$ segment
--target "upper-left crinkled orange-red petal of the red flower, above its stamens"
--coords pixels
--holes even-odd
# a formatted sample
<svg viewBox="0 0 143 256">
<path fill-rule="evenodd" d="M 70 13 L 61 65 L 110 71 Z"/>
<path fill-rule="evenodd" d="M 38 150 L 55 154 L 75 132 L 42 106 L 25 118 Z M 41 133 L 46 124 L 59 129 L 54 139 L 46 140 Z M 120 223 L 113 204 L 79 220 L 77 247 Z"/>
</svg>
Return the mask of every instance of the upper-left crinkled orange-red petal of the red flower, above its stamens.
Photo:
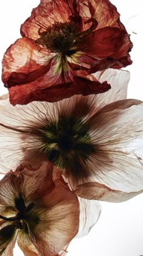
<svg viewBox="0 0 143 256">
<path fill-rule="evenodd" d="M 30 18 L 22 24 L 21 35 L 36 40 L 39 38 L 39 30 L 42 32 L 55 22 L 68 22 L 71 15 L 67 1 L 42 0 L 41 4 L 33 9 Z"/>
</svg>

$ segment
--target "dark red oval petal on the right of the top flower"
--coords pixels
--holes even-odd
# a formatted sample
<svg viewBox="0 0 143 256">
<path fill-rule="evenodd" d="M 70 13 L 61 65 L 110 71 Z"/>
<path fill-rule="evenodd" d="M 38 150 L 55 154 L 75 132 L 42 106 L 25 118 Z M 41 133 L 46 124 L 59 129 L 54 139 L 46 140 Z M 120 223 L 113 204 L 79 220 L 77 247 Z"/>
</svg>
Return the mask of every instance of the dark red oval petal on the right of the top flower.
<svg viewBox="0 0 143 256">
<path fill-rule="evenodd" d="M 91 47 L 87 48 L 86 44 Z M 122 48 L 123 44 L 124 48 Z M 118 59 L 119 62 L 119 59 L 128 55 L 128 51 L 131 49 L 131 46 L 132 43 L 127 37 L 126 30 L 121 30 L 116 27 L 104 27 L 102 29 L 95 30 L 93 34 L 87 35 L 84 42 L 82 42 L 80 49 L 83 49 L 87 55 L 91 55 L 97 60 L 113 58 Z M 108 68 L 110 68 L 111 63 L 108 63 L 110 65 Z M 102 67 L 99 65 L 98 70 L 102 70 Z M 96 66 L 95 71 L 97 71 Z"/>
</svg>

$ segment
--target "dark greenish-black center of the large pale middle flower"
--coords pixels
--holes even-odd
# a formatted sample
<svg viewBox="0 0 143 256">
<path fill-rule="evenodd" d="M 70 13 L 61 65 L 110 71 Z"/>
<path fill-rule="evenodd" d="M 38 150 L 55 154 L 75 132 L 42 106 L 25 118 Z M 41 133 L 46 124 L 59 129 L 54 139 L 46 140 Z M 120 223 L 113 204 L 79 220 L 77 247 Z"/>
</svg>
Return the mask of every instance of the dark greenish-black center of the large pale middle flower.
<svg viewBox="0 0 143 256">
<path fill-rule="evenodd" d="M 85 165 L 88 157 L 95 152 L 89 127 L 73 116 L 59 116 L 58 122 L 43 128 L 41 140 L 41 151 L 45 152 L 48 160 L 58 168 L 70 171 Z"/>
</svg>

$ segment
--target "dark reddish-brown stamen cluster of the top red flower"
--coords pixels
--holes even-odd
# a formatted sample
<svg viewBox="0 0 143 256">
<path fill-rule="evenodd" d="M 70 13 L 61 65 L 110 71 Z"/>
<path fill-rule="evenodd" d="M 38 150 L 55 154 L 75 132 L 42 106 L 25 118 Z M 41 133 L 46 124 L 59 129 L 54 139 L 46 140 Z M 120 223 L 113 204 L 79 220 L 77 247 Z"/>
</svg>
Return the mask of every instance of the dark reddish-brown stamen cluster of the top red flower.
<svg viewBox="0 0 143 256">
<path fill-rule="evenodd" d="M 79 34 L 78 24 L 74 22 L 55 23 L 44 32 L 39 32 L 40 38 L 36 43 L 52 52 L 71 55 L 76 52 L 75 45 Z"/>
</svg>

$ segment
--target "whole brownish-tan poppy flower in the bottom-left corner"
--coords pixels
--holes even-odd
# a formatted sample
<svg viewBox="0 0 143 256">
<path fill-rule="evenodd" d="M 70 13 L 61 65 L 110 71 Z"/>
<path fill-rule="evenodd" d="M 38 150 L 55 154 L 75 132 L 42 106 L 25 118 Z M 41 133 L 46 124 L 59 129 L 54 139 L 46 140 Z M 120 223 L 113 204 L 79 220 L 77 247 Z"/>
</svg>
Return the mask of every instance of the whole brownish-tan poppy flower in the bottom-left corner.
<svg viewBox="0 0 143 256">
<path fill-rule="evenodd" d="M 24 255 L 63 255 L 78 233 L 78 197 L 64 180 L 53 182 L 52 170 L 49 162 L 19 165 L 0 181 L 1 255 L 13 255 L 16 240 Z"/>
</svg>

